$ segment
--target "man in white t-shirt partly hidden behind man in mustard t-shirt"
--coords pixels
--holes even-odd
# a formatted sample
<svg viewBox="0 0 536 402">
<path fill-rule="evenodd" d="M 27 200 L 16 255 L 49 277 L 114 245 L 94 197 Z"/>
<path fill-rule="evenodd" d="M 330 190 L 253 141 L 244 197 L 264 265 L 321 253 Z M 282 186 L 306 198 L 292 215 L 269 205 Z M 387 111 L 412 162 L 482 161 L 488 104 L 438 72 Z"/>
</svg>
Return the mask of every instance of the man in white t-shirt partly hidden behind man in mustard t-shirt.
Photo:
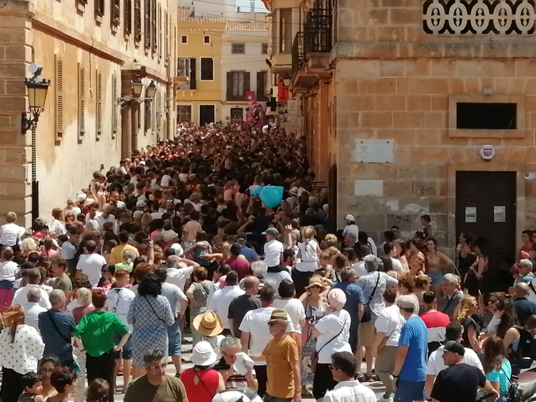
<svg viewBox="0 0 536 402">
<path fill-rule="evenodd" d="M 242 323 L 240 324 L 240 331 L 242 335 L 240 337 L 242 343 L 242 352 L 249 354 L 259 354 L 264 351 L 264 348 L 268 344 L 268 341 L 272 338 L 270 334 L 270 328 L 268 326 L 268 320 L 272 315 L 272 311 L 276 308 L 273 307 L 273 301 L 276 299 L 276 289 L 272 286 L 263 286 L 259 291 L 260 308 L 248 311 Z M 287 315 L 287 333 L 294 332 L 294 325 L 292 324 L 291 317 Z M 258 394 L 264 396 L 266 392 L 266 361 L 254 362 L 255 373 L 257 375 L 257 382 L 259 384 Z"/>
</svg>

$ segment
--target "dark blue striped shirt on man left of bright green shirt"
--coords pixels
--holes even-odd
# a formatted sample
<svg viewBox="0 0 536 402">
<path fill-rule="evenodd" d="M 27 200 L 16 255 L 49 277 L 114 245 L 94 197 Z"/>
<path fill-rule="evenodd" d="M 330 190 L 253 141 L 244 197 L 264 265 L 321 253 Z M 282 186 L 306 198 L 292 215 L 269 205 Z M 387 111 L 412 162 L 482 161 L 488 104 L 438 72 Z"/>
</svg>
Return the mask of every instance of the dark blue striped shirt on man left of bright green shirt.
<svg viewBox="0 0 536 402">
<path fill-rule="evenodd" d="M 54 319 L 60 335 L 50 318 Z M 75 317 L 65 311 L 50 309 L 39 314 L 39 330 L 44 342 L 44 356 L 56 356 L 62 364 L 72 361 L 71 333 L 75 332 Z"/>
</svg>

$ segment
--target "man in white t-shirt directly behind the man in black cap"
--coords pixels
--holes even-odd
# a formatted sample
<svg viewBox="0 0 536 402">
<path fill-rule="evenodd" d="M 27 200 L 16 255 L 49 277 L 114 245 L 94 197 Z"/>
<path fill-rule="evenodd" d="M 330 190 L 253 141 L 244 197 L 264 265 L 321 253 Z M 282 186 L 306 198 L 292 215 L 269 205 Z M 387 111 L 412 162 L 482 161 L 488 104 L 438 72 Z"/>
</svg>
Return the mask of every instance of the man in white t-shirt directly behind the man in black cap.
<svg viewBox="0 0 536 402">
<path fill-rule="evenodd" d="M 449 323 L 446 326 L 445 331 L 445 342 L 448 342 L 449 340 L 453 340 L 456 342 L 461 342 L 461 333 L 463 332 L 463 326 L 459 322 L 453 321 Z M 443 346 L 438 348 L 436 351 L 432 352 L 430 354 L 430 357 L 428 358 L 428 365 L 426 366 L 426 383 L 425 383 L 425 390 L 426 390 L 426 397 L 431 398 L 431 392 L 434 388 L 434 382 L 441 370 L 446 369 L 448 366 L 443 361 Z M 465 354 L 464 354 L 464 363 L 468 364 L 469 366 L 474 366 L 478 368 L 480 371 L 482 371 L 482 374 L 484 373 L 484 369 L 482 367 L 482 363 L 480 362 L 480 359 L 477 355 L 477 352 L 473 351 L 473 349 L 465 348 Z"/>
</svg>

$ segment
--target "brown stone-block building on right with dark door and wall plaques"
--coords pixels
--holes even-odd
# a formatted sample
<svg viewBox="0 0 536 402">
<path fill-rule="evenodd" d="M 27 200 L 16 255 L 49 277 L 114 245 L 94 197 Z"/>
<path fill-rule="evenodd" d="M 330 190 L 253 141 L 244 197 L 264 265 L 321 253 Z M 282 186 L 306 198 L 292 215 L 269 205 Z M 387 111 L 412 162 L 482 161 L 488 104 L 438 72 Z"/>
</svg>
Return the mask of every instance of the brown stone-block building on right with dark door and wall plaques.
<svg viewBox="0 0 536 402">
<path fill-rule="evenodd" d="M 316 0 L 302 12 L 292 90 L 338 227 L 352 213 L 383 241 L 429 214 L 440 248 L 472 232 L 510 263 L 536 227 L 533 2 Z"/>
</svg>

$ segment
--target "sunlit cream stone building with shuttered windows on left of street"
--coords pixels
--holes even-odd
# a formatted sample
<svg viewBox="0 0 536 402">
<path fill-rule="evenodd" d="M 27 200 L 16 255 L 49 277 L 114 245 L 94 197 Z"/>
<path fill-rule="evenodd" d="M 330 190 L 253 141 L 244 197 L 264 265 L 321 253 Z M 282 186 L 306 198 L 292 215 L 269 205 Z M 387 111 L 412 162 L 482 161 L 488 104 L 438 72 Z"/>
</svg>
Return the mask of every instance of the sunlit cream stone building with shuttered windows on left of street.
<svg viewBox="0 0 536 402">
<path fill-rule="evenodd" d="M 0 33 L 0 215 L 15 211 L 30 224 L 31 132 L 21 133 L 30 63 L 51 81 L 36 132 L 41 217 L 101 165 L 173 138 L 174 0 L 6 0 Z M 154 81 L 157 94 L 122 102 L 138 75 L 145 86 Z"/>
</svg>

